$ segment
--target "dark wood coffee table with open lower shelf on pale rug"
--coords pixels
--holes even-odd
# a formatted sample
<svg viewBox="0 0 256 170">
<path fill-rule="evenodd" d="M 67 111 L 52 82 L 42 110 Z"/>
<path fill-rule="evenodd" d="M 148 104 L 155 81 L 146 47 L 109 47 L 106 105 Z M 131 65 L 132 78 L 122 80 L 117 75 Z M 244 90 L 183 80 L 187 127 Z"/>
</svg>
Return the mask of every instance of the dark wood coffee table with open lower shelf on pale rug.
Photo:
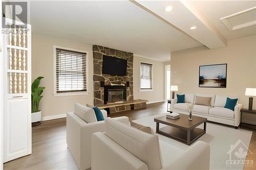
<svg viewBox="0 0 256 170">
<path fill-rule="evenodd" d="M 156 133 L 173 138 L 188 145 L 195 142 L 206 133 L 207 118 L 193 116 L 193 120 L 188 120 L 188 115 L 180 114 L 180 118 L 170 119 L 166 115 L 154 119 L 156 122 Z M 167 125 L 159 129 L 159 124 Z M 204 124 L 204 129 L 196 128 Z"/>
</svg>

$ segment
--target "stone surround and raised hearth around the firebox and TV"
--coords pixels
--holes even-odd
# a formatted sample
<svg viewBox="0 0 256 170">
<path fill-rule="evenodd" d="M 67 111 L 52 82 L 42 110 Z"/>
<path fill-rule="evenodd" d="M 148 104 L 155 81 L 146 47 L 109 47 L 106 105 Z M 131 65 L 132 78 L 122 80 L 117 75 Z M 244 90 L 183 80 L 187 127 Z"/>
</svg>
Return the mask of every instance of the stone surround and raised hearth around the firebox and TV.
<svg viewBox="0 0 256 170">
<path fill-rule="evenodd" d="M 127 71 L 126 76 L 112 76 L 102 74 L 102 57 L 103 55 L 117 57 L 127 60 Z M 134 100 L 133 96 L 133 53 L 123 52 L 100 45 L 93 45 L 93 67 L 94 67 L 94 105 L 99 106 L 104 103 L 104 87 L 110 87 L 112 84 L 124 84 L 122 86 L 126 89 L 126 101 L 130 102 Z M 112 88 L 115 88 L 112 86 Z M 125 92 L 124 92 L 125 94 Z M 124 98 L 125 99 L 125 98 Z M 118 111 L 139 109 L 146 107 L 146 103 L 136 103 L 133 105 L 124 105 L 111 107 L 108 109 L 109 113 L 115 113 Z"/>
</svg>

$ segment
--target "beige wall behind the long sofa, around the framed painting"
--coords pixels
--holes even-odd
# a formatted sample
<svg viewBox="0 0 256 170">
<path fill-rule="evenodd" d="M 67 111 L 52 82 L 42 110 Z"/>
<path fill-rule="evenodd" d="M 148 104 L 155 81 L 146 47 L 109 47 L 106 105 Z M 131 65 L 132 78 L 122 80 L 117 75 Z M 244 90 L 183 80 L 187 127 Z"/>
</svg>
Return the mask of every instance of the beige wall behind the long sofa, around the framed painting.
<svg viewBox="0 0 256 170">
<path fill-rule="evenodd" d="M 179 92 L 238 96 L 248 108 L 245 88 L 256 88 L 256 36 L 228 41 L 227 47 L 208 50 L 200 46 L 171 54 L 171 84 Z M 227 88 L 198 87 L 199 66 L 227 63 Z M 253 108 L 256 109 L 256 98 Z"/>
</svg>

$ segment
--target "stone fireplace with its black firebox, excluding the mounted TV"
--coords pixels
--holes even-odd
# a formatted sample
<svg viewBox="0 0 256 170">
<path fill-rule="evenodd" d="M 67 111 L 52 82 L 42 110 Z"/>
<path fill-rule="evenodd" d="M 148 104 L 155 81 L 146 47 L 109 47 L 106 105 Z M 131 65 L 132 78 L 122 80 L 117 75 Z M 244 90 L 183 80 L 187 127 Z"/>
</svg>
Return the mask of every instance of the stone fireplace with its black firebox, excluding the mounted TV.
<svg viewBox="0 0 256 170">
<path fill-rule="evenodd" d="M 103 55 L 117 57 L 127 60 L 126 76 L 113 76 L 102 74 Z M 112 96 L 112 102 L 118 102 L 123 91 L 123 101 L 133 101 L 133 53 L 123 52 L 100 45 L 93 45 L 93 65 L 94 65 L 94 105 L 103 105 L 109 101 L 109 95 Z M 118 86 L 111 86 L 117 84 Z M 124 85 L 124 86 L 123 86 Z M 113 90 L 117 88 L 118 90 Z M 107 91 L 109 89 L 109 91 Z M 112 90 L 111 90 L 112 89 Z M 120 90 L 122 89 L 122 90 Z M 110 93 L 109 93 L 110 92 Z M 114 101 L 113 101 L 114 100 Z M 119 100 L 119 102 L 121 99 Z M 130 106 L 118 106 L 110 108 L 110 113 L 130 110 Z"/>
</svg>

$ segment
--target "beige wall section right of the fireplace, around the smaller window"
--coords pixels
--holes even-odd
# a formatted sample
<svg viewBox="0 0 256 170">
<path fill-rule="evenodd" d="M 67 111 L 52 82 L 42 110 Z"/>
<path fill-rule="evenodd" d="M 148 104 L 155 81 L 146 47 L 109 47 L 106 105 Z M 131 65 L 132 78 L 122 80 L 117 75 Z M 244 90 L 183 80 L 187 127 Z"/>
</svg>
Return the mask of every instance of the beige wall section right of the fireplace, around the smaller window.
<svg viewBox="0 0 256 170">
<path fill-rule="evenodd" d="M 140 61 L 153 64 L 153 91 L 139 91 Z M 134 55 L 133 83 L 134 99 L 144 99 L 149 102 L 164 100 L 164 65 L 163 62 Z"/>
</svg>

